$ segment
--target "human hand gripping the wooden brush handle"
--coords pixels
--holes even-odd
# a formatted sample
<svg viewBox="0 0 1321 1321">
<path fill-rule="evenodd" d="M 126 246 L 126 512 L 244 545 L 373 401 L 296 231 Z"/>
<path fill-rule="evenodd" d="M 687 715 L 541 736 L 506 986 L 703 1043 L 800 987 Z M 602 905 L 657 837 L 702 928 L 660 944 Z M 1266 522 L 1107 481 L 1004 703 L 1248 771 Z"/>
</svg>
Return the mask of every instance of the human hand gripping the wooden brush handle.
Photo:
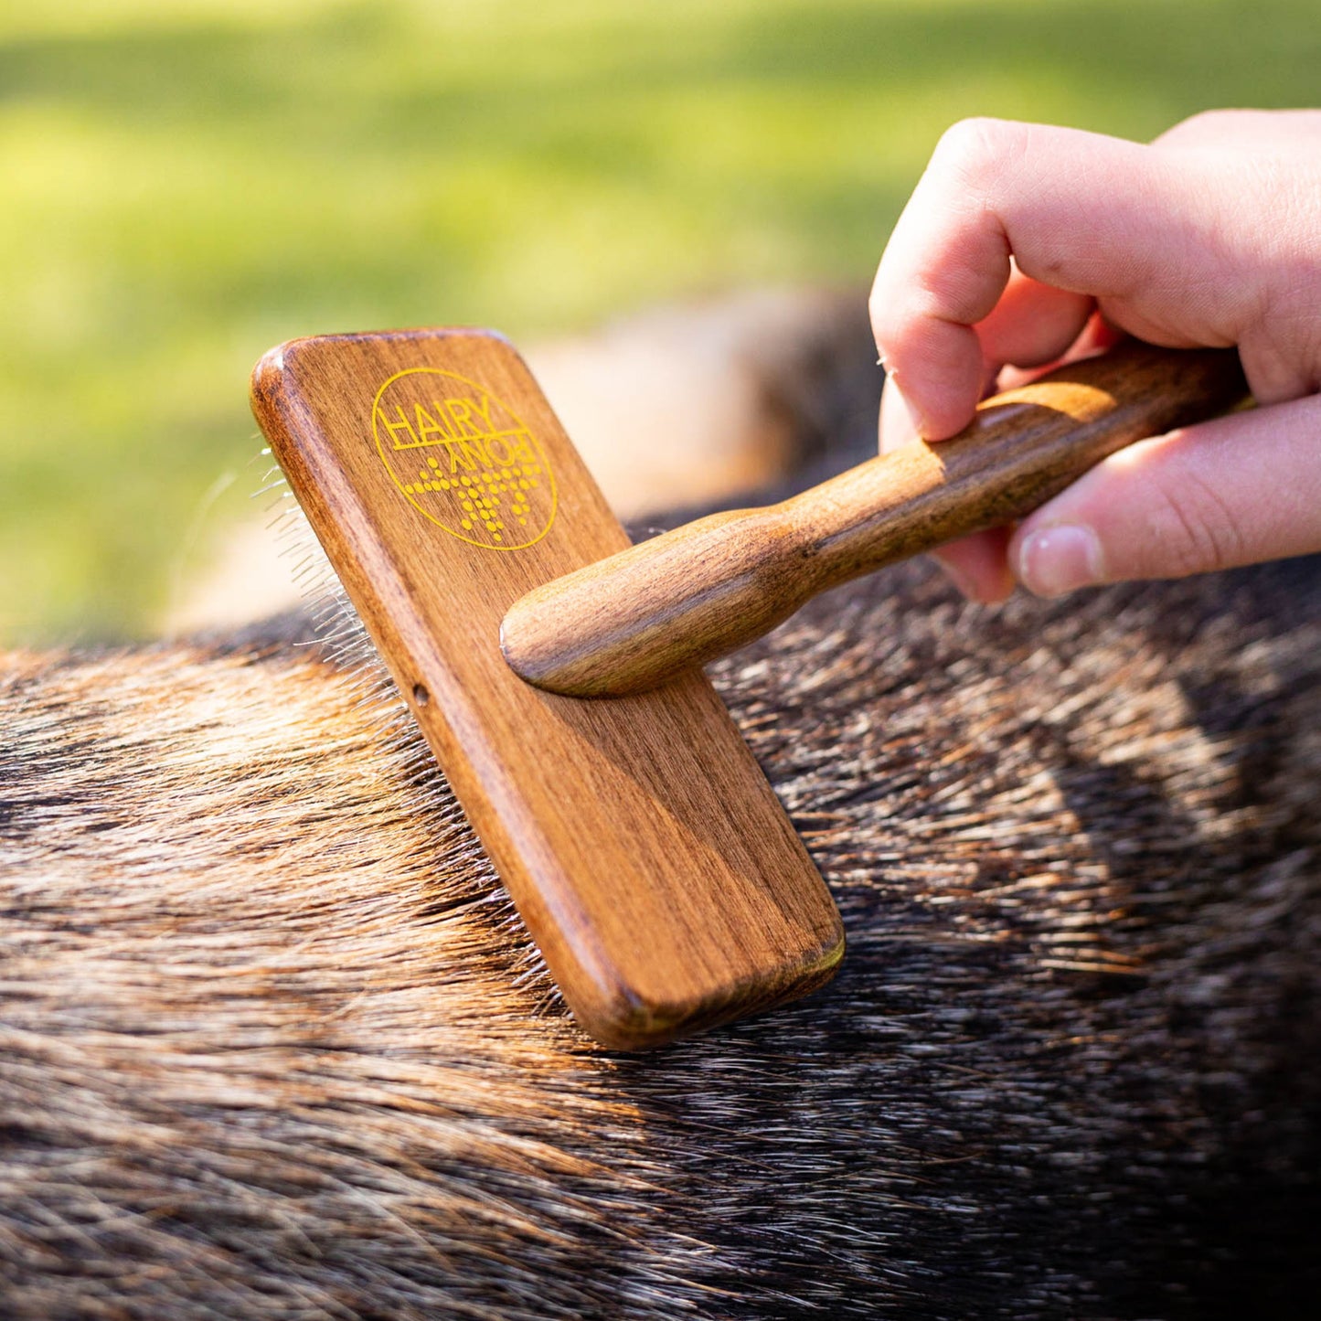
<svg viewBox="0 0 1321 1321">
<path fill-rule="evenodd" d="M 968 597 L 1181 577 L 1321 550 L 1321 111 L 1213 111 L 1149 145 L 967 120 L 881 258 L 881 449 L 1127 332 L 1236 345 L 1259 408 L 1112 454 L 938 552 Z"/>
</svg>

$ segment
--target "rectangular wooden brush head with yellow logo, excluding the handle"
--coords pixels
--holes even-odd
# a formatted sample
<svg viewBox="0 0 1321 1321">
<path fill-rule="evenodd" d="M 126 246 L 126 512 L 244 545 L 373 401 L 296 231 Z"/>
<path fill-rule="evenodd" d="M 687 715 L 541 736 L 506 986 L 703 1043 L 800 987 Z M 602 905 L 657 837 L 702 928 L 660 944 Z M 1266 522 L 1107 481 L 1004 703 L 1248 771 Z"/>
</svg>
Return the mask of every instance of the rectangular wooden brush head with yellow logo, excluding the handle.
<svg viewBox="0 0 1321 1321">
<path fill-rule="evenodd" d="M 254 412 L 579 1022 L 653 1046 L 827 982 L 839 914 L 699 672 L 581 701 L 499 622 L 627 546 L 498 336 L 300 339 Z"/>
</svg>

